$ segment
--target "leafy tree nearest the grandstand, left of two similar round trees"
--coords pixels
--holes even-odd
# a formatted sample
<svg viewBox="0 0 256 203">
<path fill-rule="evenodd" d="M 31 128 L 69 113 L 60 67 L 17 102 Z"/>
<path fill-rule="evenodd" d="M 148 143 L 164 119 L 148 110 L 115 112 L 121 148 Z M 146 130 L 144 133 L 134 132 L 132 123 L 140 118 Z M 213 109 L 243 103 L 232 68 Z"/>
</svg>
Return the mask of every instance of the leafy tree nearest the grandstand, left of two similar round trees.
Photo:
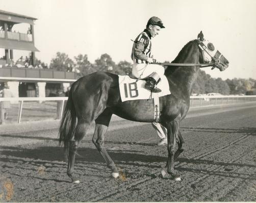
<svg viewBox="0 0 256 203">
<path fill-rule="evenodd" d="M 50 68 L 56 71 L 71 72 L 73 66 L 74 62 L 65 53 L 57 52 L 56 57 L 50 61 Z"/>
</svg>

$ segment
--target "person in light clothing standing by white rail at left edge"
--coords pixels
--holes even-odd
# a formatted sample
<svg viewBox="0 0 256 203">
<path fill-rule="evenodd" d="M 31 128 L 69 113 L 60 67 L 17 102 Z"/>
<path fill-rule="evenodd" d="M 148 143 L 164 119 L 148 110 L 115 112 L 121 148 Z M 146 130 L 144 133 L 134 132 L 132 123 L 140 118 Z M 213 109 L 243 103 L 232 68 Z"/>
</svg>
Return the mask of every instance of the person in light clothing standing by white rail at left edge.
<svg viewBox="0 0 256 203">
<path fill-rule="evenodd" d="M 2 97 L 14 97 L 12 92 L 9 90 L 7 83 L 4 84 L 4 89 L 1 90 Z M 0 103 L 0 124 L 4 124 L 8 118 L 7 110 L 11 108 L 10 101 L 1 101 Z"/>
</svg>

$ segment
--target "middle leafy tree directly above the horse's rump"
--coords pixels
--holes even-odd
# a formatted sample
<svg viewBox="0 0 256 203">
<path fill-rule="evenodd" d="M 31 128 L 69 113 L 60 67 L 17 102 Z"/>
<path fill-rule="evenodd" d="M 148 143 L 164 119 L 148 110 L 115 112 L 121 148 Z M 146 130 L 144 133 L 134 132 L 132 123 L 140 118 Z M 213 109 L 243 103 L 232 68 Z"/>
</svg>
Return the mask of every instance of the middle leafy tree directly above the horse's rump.
<svg viewBox="0 0 256 203">
<path fill-rule="evenodd" d="M 78 73 L 77 74 L 78 78 L 96 71 L 93 68 L 93 65 L 88 60 L 87 54 L 85 55 L 79 54 L 78 56 L 75 56 L 74 59 L 75 59 L 74 67 L 75 67 L 76 73 Z"/>
</svg>

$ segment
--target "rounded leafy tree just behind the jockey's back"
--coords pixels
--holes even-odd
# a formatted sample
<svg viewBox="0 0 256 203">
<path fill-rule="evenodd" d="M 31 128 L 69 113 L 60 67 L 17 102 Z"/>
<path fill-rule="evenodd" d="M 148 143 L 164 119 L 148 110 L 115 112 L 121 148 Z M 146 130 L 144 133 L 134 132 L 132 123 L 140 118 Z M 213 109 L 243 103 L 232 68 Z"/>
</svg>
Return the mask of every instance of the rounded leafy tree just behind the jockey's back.
<svg viewBox="0 0 256 203">
<path fill-rule="evenodd" d="M 115 62 L 112 60 L 110 55 L 102 54 L 100 58 L 95 60 L 94 68 L 98 71 L 115 72 Z"/>
</svg>

